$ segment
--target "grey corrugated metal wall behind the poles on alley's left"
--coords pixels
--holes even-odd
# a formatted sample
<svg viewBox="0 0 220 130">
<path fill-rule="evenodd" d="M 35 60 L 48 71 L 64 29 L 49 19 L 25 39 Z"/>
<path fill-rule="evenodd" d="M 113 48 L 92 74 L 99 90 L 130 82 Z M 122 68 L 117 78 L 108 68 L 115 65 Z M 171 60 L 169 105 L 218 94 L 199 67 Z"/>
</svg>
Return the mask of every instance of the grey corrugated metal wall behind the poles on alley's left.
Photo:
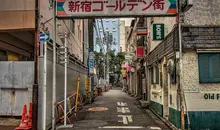
<svg viewBox="0 0 220 130">
<path fill-rule="evenodd" d="M 48 47 L 48 57 L 47 57 L 47 126 L 50 127 L 52 124 L 52 48 Z M 39 58 L 39 105 L 38 105 L 38 113 L 39 113 L 39 123 L 42 120 L 42 104 L 43 104 L 43 57 Z M 62 64 L 57 63 L 57 89 L 56 89 L 56 98 L 57 101 L 61 101 L 64 99 L 64 66 Z M 82 66 L 78 65 L 76 62 L 70 61 L 68 64 L 68 78 L 67 78 L 67 94 L 71 95 L 76 91 L 77 87 L 77 77 L 80 75 L 80 93 L 83 94 L 85 92 L 85 78 L 87 76 L 87 70 Z M 56 113 L 57 114 L 57 113 Z M 38 126 L 41 126 L 40 124 Z M 39 128 L 40 129 L 40 128 Z"/>
</svg>

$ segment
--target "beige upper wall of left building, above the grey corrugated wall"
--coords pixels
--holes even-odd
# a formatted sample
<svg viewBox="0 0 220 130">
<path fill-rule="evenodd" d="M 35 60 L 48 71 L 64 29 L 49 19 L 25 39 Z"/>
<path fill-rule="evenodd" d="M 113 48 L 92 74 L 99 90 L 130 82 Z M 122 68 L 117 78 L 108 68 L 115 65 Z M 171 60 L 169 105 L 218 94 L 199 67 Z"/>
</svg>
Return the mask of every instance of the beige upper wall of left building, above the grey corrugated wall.
<svg viewBox="0 0 220 130">
<path fill-rule="evenodd" d="M 41 0 L 40 2 L 40 15 L 41 25 L 48 21 L 44 26 L 41 26 L 41 30 L 48 28 L 48 31 L 52 34 L 52 10 L 49 8 L 49 2 L 47 0 Z M 75 20 L 75 33 L 71 31 L 71 22 L 72 20 L 57 20 L 57 33 L 63 34 L 67 32 L 70 34 L 68 37 L 69 51 L 83 61 L 83 20 Z M 53 39 L 52 36 L 51 39 Z M 57 35 L 57 43 L 61 45 L 63 41 Z"/>
</svg>

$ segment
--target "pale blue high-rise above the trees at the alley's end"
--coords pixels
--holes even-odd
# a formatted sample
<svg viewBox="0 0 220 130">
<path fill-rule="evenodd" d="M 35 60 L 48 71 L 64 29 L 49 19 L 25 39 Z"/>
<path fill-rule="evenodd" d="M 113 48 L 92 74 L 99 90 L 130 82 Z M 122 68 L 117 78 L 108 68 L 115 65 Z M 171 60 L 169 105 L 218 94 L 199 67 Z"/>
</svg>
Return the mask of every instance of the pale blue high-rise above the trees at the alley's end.
<svg viewBox="0 0 220 130">
<path fill-rule="evenodd" d="M 102 24 L 103 22 L 103 24 Z M 120 20 L 119 19 L 97 19 L 94 27 L 94 51 L 107 51 L 107 43 L 103 43 L 104 33 L 109 38 L 109 50 L 120 51 Z"/>
</svg>

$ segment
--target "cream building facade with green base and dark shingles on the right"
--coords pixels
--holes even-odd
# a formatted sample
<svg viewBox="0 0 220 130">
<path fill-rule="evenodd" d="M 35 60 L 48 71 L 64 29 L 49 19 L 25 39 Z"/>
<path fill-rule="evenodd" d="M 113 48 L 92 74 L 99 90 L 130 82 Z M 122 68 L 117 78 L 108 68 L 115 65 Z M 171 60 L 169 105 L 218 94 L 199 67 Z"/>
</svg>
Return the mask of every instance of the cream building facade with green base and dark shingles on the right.
<svg viewBox="0 0 220 130">
<path fill-rule="evenodd" d="M 149 36 L 147 88 L 150 107 L 177 128 L 181 128 L 181 102 L 185 128 L 219 129 L 220 109 L 220 24 L 219 1 L 194 1 L 182 23 L 183 59 L 180 66 L 176 18 L 148 18 L 165 25 L 165 39 L 153 41 Z M 212 20 L 210 20 L 212 19 Z M 155 45 L 156 43 L 156 45 Z M 183 98 L 181 98 L 183 97 Z"/>
</svg>

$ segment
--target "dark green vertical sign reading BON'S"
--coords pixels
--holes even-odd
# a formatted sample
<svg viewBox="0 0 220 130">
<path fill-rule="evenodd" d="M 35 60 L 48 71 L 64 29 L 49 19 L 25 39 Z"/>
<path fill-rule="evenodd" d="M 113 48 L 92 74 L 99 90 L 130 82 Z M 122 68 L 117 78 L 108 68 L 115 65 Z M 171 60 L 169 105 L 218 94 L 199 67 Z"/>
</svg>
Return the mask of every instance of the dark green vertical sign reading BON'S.
<svg viewBox="0 0 220 130">
<path fill-rule="evenodd" d="M 164 24 L 153 24 L 153 40 L 164 40 Z"/>
</svg>

